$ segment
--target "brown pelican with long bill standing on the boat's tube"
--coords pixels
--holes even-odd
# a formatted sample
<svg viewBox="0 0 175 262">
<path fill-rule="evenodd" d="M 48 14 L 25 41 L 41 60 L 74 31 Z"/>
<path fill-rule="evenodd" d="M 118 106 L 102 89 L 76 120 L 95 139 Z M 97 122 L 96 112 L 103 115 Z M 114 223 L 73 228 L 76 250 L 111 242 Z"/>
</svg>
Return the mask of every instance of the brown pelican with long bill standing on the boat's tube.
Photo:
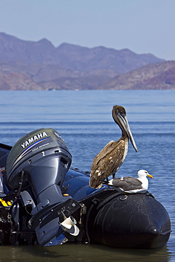
<svg viewBox="0 0 175 262">
<path fill-rule="evenodd" d="M 123 106 L 113 106 L 112 115 L 113 120 L 122 130 L 122 137 L 117 142 L 113 140 L 108 142 L 101 152 L 95 156 L 91 165 L 89 181 L 91 188 L 101 188 L 103 180 L 108 178 L 108 176 L 113 175 L 113 178 L 115 178 L 115 173 L 123 164 L 128 153 L 129 139 L 137 152 L 137 147 L 126 118 L 125 108 Z"/>
</svg>

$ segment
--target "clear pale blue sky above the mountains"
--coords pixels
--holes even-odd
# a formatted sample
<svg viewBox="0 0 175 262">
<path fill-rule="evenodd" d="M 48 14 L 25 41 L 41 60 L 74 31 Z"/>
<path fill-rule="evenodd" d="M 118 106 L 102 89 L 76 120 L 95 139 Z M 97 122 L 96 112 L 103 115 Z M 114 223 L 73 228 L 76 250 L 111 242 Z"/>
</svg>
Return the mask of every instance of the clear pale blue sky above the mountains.
<svg viewBox="0 0 175 262">
<path fill-rule="evenodd" d="M 0 32 L 175 60 L 175 0 L 0 0 Z"/>
</svg>

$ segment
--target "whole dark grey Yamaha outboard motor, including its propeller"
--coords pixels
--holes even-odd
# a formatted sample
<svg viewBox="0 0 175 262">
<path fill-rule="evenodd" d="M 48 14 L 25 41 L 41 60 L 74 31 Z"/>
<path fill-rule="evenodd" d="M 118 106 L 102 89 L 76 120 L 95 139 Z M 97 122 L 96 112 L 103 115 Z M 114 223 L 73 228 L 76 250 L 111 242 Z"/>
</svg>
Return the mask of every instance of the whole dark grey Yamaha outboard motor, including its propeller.
<svg viewBox="0 0 175 262">
<path fill-rule="evenodd" d="M 11 190 L 31 206 L 30 229 L 35 229 L 42 246 L 62 244 L 64 232 L 79 234 L 73 213 L 79 204 L 69 195 L 62 195 L 72 155 L 61 135 L 51 129 L 28 133 L 12 147 L 6 162 L 6 182 Z M 17 220 L 17 206 L 13 207 Z"/>
</svg>

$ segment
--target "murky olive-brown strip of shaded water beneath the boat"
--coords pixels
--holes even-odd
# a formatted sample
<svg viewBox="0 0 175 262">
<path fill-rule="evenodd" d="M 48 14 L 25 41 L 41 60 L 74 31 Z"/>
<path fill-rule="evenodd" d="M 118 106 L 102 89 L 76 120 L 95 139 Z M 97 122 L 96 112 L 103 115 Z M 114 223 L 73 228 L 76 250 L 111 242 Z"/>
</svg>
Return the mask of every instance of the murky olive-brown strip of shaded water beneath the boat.
<svg viewBox="0 0 175 262">
<path fill-rule="evenodd" d="M 1 246 L 1 261 L 127 261 L 168 262 L 171 253 L 164 247 L 156 250 L 113 249 L 89 244 L 64 244 L 62 246 Z"/>
</svg>

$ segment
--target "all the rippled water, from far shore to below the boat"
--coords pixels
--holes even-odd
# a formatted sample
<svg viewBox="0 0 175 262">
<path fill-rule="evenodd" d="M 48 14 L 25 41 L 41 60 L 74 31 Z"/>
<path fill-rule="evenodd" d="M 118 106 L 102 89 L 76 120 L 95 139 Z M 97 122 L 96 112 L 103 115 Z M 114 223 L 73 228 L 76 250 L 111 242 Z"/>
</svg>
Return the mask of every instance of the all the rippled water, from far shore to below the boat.
<svg viewBox="0 0 175 262">
<path fill-rule="evenodd" d="M 0 261 L 175 261 L 175 91 L 0 91 L 1 143 L 13 145 L 26 133 L 52 127 L 73 156 L 72 167 L 89 171 L 94 156 L 120 137 L 113 105 L 124 106 L 138 152 L 130 144 L 118 176 L 154 176 L 149 192 L 169 212 L 173 232 L 158 250 L 113 249 L 64 244 L 1 246 Z"/>
</svg>

